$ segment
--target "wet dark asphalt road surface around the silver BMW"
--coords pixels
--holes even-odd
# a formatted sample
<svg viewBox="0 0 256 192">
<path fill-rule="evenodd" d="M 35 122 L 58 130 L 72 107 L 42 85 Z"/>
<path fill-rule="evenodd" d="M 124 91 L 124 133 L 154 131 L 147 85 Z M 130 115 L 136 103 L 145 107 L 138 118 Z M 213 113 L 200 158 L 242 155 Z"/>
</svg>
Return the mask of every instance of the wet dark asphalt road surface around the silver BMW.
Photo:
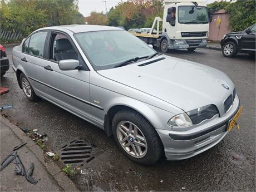
<svg viewBox="0 0 256 192">
<path fill-rule="evenodd" d="M 11 48 L 6 47 L 10 59 Z M 13 107 L 1 114 L 20 127 L 46 133 L 46 145 L 55 152 L 81 137 L 102 149 L 72 177 L 83 191 L 255 191 L 255 58 L 245 54 L 225 58 L 220 51 L 209 49 L 171 51 L 168 55 L 227 73 L 244 106 L 238 121 L 240 130 L 233 129 L 218 145 L 190 159 L 163 158 L 153 166 L 132 163 L 104 131 L 47 101 L 28 101 L 12 69 L 1 78 L 1 86 L 10 89 L 1 95 L 1 106 Z"/>
</svg>

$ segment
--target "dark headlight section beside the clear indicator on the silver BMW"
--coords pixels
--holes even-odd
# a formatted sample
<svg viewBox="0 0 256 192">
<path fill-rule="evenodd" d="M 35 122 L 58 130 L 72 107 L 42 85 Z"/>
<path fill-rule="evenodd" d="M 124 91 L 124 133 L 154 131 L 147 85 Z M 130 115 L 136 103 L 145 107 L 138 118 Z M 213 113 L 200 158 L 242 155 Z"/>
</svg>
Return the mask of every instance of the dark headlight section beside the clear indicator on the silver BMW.
<svg viewBox="0 0 256 192">
<path fill-rule="evenodd" d="M 186 112 L 193 124 L 199 124 L 200 122 L 211 119 L 214 115 L 219 114 L 219 111 L 215 105 L 206 105 L 199 107 L 198 109 Z"/>
</svg>

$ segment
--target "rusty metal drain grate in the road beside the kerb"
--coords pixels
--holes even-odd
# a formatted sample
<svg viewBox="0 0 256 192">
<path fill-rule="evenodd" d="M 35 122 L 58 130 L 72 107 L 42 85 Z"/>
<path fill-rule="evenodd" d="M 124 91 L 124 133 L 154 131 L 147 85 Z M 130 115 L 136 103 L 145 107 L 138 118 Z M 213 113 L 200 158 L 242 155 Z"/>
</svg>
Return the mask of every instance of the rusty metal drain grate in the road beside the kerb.
<svg viewBox="0 0 256 192">
<path fill-rule="evenodd" d="M 61 147 L 61 160 L 64 164 L 79 164 L 83 161 L 88 163 L 95 158 L 92 155 L 92 150 L 95 147 L 95 145 L 82 139 L 73 140 Z"/>
</svg>

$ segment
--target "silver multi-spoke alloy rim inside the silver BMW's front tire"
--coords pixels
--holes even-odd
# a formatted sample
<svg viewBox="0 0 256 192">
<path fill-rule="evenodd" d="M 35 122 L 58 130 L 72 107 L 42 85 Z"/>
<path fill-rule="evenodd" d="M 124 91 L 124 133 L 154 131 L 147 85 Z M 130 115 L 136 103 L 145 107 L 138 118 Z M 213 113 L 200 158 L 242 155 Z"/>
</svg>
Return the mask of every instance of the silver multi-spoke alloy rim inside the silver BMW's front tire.
<svg viewBox="0 0 256 192">
<path fill-rule="evenodd" d="M 121 121 L 116 129 L 122 148 L 131 156 L 142 158 L 147 153 L 147 142 L 139 127 L 130 121 Z"/>
</svg>

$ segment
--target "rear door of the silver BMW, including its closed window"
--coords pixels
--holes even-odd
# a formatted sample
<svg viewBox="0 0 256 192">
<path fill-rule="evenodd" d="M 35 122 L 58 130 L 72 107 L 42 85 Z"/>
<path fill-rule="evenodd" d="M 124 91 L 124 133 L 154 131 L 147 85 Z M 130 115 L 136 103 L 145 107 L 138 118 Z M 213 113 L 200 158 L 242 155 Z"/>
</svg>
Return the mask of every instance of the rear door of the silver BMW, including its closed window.
<svg viewBox="0 0 256 192">
<path fill-rule="evenodd" d="M 48 31 L 29 36 L 22 45 L 21 62 L 28 81 L 38 96 L 45 95 L 45 43 Z"/>
</svg>

